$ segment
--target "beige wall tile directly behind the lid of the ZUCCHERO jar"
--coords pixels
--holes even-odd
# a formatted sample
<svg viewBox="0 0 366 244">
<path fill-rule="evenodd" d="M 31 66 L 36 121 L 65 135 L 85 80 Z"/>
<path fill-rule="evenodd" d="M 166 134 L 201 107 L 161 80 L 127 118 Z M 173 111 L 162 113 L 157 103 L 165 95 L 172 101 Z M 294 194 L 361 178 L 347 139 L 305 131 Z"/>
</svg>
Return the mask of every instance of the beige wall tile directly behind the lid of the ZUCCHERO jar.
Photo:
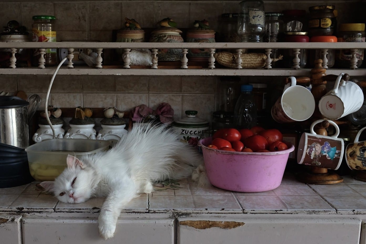
<svg viewBox="0 0 366 244">
<path fill-rule="evenodd" d="M 212 121 L 214 111 L 214 95 L 183 95 L 182 96 L 182 117 L 186 116 L 186 110 L 197 110 L 197 117 Z"/>
</svg>

